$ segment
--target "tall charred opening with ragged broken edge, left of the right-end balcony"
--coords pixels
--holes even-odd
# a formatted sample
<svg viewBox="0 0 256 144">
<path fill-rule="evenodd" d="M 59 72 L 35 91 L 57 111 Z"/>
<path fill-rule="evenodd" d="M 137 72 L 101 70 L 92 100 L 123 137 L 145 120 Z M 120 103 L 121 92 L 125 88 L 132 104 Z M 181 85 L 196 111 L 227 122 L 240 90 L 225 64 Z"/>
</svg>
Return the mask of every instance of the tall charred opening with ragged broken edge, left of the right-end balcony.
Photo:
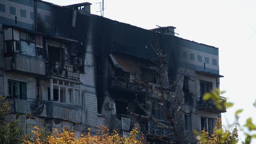
<svg viewBox="0 0 256 144">
<path fill-rule="evenodd" d="M 189 92 L 189 77 L 184 76 L 182 91 L 184 92 L 184 103 L 193 106 L 193 94 Z"/>
</svg>

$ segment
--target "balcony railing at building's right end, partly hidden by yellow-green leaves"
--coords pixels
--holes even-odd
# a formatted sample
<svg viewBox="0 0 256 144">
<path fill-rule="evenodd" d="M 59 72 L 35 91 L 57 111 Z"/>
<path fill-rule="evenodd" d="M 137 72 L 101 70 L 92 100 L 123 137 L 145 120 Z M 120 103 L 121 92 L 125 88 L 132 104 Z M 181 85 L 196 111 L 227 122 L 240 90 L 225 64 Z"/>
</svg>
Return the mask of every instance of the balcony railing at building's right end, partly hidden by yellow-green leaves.
<svg viewBox="0 0 256 144">
<path fill-rule="evenodd" d="M 215 103 L 212 100 L 208 100 L 208 101 L 197 101 L 197 109 L 198 110 L 207 110 L 209 112 L 214 112 L 214 113 L 223 113 L 226 112 L 226 98 L 225 97 L 220 97 L 221 100 L 221 109 L 217 108 L 215 106 Z"/>
</svg>

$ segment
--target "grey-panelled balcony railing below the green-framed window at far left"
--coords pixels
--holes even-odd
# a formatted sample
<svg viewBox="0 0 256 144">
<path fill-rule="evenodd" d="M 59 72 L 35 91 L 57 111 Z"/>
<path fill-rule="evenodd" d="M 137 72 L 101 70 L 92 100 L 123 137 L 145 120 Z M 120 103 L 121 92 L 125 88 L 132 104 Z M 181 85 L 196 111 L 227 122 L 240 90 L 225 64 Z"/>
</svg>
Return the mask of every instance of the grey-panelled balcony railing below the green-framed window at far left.
<svg viewBox="0 0 256 144">
<path fill-rule="evenodd" d="M 24 96 L 8 96 L 11 112 L 28 115 L 46 116 L 45 102 L 37 99 L 30 99 Z"/>
</svg>

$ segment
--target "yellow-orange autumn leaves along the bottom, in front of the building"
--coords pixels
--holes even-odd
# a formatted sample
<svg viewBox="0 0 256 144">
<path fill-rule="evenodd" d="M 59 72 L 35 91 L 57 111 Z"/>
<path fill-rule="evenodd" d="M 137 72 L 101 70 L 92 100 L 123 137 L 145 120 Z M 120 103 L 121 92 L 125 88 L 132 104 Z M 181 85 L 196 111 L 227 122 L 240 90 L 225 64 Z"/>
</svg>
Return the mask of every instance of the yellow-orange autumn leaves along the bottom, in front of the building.
<svg viewBox="0 0 256 144">
<path fill-rule="evenodd" d="M 54 130 L 42 139 L 41 130 L 35 126 L 35 130 L 32 131 L 34 137 L 32 139 L 25 137 L 22 144 L 145 144 L 143 134 L 140 134 L 139 138 L 137 137 L 137 128 L 130 131 L 129 137 L 122 137 L 117 130 L 110 133 L 107 126 L 96 127 L 98 128 L 96 135 L 92 135 L 91 129 L 88 128 L 87 133 L 83 133 L 81 137 L 76 137 L 73 130 L 62 128 L 62 132 Z"/>
</svg>

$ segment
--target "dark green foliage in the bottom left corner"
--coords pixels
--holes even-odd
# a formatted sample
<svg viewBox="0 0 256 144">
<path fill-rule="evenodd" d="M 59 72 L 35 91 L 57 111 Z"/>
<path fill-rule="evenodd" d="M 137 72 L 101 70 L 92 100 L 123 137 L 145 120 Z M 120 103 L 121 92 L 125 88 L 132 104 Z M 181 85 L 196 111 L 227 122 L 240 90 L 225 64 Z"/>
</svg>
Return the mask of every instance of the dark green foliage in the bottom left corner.
<svg viewBox="0 0 256 144">
<path fill-rule="evenodd" d="M 6 97 L 0 96 L 0 142 L 1 144 L 20 144 L 22 142 L 22 126 L 15 119 L 7 122 L 9 110 L 9 102 Z"/>
</svg>

